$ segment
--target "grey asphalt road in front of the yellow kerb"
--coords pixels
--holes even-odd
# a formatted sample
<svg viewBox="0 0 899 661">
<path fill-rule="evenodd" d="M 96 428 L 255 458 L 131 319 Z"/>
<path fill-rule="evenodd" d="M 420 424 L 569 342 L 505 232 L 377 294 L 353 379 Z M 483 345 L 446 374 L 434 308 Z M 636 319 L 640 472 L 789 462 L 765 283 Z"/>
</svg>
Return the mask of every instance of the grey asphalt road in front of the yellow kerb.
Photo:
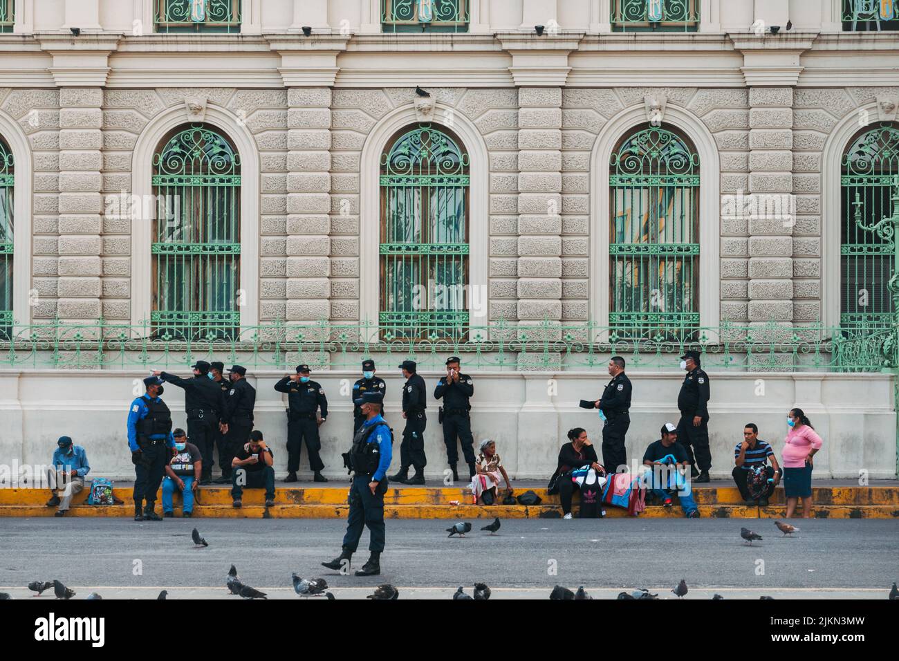
<svg viewBox="0 0 899 661">
<path fill-rule="evenodd" d="M 546 596 L 556 584 L 585 585 L 596 596 L 640 586 L 673 598 L 669 590 L 685 578 L 690 596 L 882 599 L 899 580 L 895 520 L 797 520 L 802 530 L 788 538 L 770 520 L 508 520 L 495 536 L 478 531 L 484 521 L 464 539 L 447 537 L 450 523 L 388 521 L 382 575 L 357 578 L 318 564 L 339 553 L 341 520 L 0 519 L 0 591 L 21 598 L 30 581 L 58 578 L 79 599 L 93 590 L 154 597 L 161 587 L 170 598 L 227 598 L 231 563 L 273 598 L 296 598 L 291 572 L 325 576 L 338 598 L 363 597 L 380 583 L 409 596 L 449 596 L 476 581 L 491 585 L 494 598 Z M 193 546 L 194 525 L 209 548 Z M 764 539 L 746 545 L 743 525 Z M 367 545 L 365 531 L 356 567 Z"/>
</svg>

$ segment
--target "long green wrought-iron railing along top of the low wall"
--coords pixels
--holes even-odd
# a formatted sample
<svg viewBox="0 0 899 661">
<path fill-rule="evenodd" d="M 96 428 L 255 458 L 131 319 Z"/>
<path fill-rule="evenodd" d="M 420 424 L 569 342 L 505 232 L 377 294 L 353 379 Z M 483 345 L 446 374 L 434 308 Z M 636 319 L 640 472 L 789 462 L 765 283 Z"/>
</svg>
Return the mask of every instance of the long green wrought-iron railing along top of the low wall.
<svg viewBox="0 0 899 661">
<path fill-rule="evenodd" d="M 468 370 L 604 371 L 610 355 L 624 356 L 628 370 L 678 371 L 688 349 L 702 355 L 707 371 L 895 371 L 895 328 L 846 332 L 821 325 L 723 324 L 696 328 L 690 341 L 667 335 L 635 339 L 634 332 L 592 322 L 544 321 L 517 326 L 503 320 L 467 326 L 448 337 L 421 339 L 398 326 L 325 321 L 299 326 L 275 320 L 241 328 L 223 338 L 208 329 L 174 333 L 147 321 L 129 326 L 111 320 L 70 324 L 58 319 L 14 326 L 0 338 L 0 367 L 15 369 L 128 370 L 174 368 L 197 359 L 236 362 L 249 370 L 284 371 L 298 362 L 331 370 L 358 371 L 361 358 L 384 364 L 410 358 L 422 370 L 442 370 L 459 355 Z"/>
</svg>

